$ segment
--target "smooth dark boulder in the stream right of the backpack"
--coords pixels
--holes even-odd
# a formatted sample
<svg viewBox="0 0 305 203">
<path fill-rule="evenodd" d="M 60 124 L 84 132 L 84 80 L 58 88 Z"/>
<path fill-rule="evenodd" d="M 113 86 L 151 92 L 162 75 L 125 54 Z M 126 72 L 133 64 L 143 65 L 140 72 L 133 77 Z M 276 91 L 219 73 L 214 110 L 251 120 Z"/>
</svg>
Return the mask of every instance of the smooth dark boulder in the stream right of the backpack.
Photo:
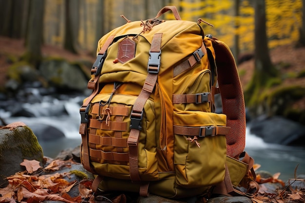
<svg viewBox="0 0 305 203">
<path fill-rule="evenodd" d="M 249 129 L 266 143 L 305 146 L 305 126 L 281 116 L 260 116 L 251 121 Z"/>
</svg>

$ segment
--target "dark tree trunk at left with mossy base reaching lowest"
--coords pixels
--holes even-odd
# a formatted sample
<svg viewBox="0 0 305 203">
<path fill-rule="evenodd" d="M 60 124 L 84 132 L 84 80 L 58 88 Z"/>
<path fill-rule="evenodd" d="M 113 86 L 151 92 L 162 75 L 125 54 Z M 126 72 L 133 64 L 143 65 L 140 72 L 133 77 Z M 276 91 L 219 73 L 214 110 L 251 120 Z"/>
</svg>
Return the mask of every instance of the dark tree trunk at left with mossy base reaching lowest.
<svg viewBox="0 0 305 203">
<path fill-rule="evenodd" d="M 42 54 L 44 0 L 30 0 L 24 59 L 38 67 Z"/>
</svg>

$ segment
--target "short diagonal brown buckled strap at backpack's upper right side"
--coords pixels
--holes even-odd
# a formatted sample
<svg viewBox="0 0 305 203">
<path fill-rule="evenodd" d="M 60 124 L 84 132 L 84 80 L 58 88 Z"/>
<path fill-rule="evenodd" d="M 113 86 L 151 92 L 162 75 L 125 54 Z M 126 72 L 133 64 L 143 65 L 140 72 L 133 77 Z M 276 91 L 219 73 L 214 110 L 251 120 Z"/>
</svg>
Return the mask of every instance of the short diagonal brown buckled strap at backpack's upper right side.
<svg viewBox="0 0 305 203">
<path fill-rule="evenodd" d="M 178 74 L 181 74 L 189 69 L 191 69 L 200 59 L 206 55 L 207 49 L 202 43 L 201 48 L 196 50 L 187 60 L 183 61 L 182 63 L 178 64 L 173 68 L 173 76 L 177 76 Z"/>
</svg>

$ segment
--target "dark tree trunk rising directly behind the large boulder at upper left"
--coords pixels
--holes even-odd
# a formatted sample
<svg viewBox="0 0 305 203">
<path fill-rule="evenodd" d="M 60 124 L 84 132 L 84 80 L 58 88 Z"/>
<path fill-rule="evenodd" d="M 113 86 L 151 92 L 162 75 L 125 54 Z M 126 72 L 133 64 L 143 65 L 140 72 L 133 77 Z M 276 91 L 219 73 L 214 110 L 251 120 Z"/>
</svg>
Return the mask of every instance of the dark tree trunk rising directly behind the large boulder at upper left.
<svg viewBox="0 0 305 203">
<path fill-rule="evenodd" d="M 76 54 L 79 28 L 79 1 L 65 0 L 65 11 L 64 49 Z"/>
</svg>

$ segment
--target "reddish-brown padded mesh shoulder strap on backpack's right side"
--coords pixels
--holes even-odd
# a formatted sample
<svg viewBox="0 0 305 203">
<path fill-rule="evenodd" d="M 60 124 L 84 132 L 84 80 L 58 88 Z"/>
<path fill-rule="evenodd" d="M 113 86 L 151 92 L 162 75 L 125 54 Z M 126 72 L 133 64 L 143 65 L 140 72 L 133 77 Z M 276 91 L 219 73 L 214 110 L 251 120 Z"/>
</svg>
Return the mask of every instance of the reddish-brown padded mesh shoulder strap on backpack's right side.
<svg viewBox="0 0 305 203">
<path fill-rule="evenodd" d="M 227 115 L 227 155 L 238 158 L 246 145 L 246 111 L 242 86 L 235 59 L 227 46 L 216 38 L 210 39 L 215 51 L 218 85 L 223 113 Z"/>
</svg>

